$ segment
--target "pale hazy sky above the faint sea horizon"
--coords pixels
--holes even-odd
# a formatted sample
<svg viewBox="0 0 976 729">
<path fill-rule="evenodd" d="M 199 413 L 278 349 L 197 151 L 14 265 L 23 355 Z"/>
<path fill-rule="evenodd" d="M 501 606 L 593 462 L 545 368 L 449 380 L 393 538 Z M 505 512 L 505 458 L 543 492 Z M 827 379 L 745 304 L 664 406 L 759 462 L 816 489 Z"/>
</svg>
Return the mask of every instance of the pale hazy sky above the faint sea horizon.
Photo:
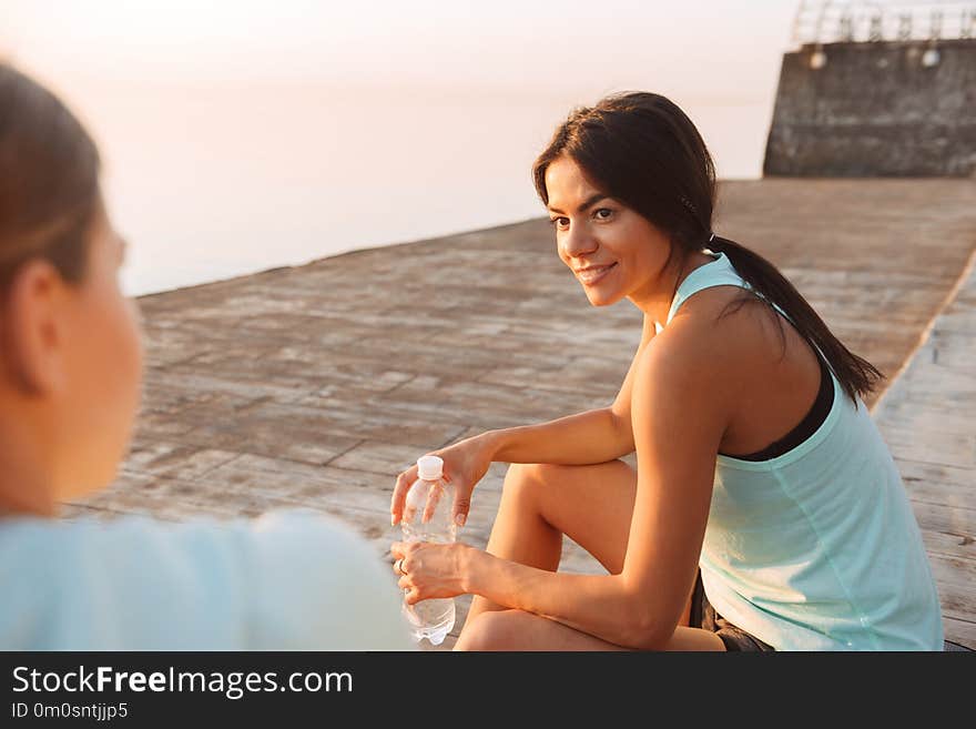
<svg viewBox="0 0 976 729">
<path fill-rule="evenodd" d="M 192 81 L 774 91 L 792 0 L 0 0 L 41 73 Z M 649 80 L 651 83 L 649 83 Z"/>
</svg>

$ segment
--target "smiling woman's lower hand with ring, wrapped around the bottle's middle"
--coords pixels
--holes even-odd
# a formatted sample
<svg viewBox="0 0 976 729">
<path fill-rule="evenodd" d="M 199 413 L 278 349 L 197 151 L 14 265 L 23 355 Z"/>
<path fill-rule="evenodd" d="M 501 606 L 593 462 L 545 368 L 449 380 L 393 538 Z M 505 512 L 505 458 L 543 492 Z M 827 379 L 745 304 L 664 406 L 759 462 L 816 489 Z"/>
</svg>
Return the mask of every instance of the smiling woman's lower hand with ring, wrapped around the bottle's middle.
<svg viewBox="0 0 976 729">
<path fill-rule="evenodd" d="M 460 543 L 395 541 L 390 547 L 393 569 L 407 605 L 467 593 L 472 551 L 474 547 Z"/>
</svg>

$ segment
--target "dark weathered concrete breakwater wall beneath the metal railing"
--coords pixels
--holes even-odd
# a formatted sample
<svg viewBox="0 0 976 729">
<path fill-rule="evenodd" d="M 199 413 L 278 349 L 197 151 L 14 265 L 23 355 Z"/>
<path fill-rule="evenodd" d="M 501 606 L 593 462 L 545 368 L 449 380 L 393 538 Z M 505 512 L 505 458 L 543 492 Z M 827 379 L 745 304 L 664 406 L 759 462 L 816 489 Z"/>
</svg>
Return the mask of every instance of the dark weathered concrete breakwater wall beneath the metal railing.
<svg viewBox="0 0 976 729">
<path fill-rule="evenodd" d="M 783 55 L 766 175 L 976 173 L 976 39 L 811 43 Z"/>
</svg>

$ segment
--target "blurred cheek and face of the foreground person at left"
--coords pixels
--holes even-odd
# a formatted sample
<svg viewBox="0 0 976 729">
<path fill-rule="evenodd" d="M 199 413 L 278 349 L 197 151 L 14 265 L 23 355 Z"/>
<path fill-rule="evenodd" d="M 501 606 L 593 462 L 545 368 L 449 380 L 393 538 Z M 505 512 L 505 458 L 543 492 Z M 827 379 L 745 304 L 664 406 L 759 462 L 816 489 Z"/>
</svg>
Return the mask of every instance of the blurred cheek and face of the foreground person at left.
<svg viewBox="0 0 976 729">
<path fill-rule="evenodd" d="M 122 294 L 125 243 L 104 210 L 91 231 L 84 280 L 70 286 L 63 331 L 63 386 L 55 394 L 61 473 L 55 496 L 81 496 L 110 484 L 139 408 L 142 344 L 135 303 Z"/>
</svg>

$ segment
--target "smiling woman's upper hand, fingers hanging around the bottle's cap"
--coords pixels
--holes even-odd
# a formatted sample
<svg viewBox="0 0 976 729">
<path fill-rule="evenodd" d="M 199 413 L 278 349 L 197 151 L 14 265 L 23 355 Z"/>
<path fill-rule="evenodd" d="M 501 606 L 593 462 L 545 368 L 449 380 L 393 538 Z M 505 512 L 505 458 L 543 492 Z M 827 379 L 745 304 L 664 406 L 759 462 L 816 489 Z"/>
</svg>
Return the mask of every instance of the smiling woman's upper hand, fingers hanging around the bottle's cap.
<svg viewBox="0 0 976 729">
<path fill-rule="evenodd" d="M 488 466 L 495 457 L 495 439 L 491 433 L 482 433 L 427 455 L 444 459 L 444 478 L 455 487 L 451 519 L 461 527 L 471 507 L 471 492 L 488 472 Z M 417 464 L 397 476 L 389 507 L 392 525 L 396 526 L 403 518 L 407 493 L 416 480 Z"/>
</svg>

